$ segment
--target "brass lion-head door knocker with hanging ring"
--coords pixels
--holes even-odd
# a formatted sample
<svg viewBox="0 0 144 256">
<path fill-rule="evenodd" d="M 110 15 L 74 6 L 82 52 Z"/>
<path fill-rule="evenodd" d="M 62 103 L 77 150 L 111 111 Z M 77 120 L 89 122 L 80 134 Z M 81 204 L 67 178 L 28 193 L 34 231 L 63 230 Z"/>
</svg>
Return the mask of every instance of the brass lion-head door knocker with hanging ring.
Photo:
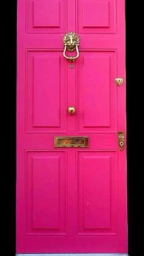
<svg viewBox="0 0 144 256">
<path fill-rule="evenodd" d="M 68 59 L 70 62 L 74 62 L 75 59 L 77 59 L 77 57 L 79 57 L 79 49 L 78 49 L 78 45 L 79 45 L 79 36 L 74 33 L 74 32 L 69 32 L 68 34 L 65 34 L 63 37 L 63 45 L 65 46 L 64 51 L 63 51 L 63 56 Z M 65 51 L 66 49 L 68 51 L 74 51 L 74 49 L 76 49 L 76 56 L 66 56 L 65 55 Z"/>
</svg>

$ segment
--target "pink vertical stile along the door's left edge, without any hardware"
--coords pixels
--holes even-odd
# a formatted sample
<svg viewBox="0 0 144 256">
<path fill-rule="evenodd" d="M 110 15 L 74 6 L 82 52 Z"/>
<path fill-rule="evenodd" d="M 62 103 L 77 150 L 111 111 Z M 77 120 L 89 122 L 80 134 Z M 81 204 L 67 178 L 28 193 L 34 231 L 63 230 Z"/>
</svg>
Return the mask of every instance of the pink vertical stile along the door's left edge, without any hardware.
<svg viewBox="0 0 144 256">
<path fill-rule="evenodd" d="M 24 237 L 24 222 L 26 220 L 24 205 L 24 181 L 25 181 L 25 150 L 23 144 L 25 123 L 25 108 L 26 103 L 26 51 L 24 48 L 24 29 L 26 24 L 26 1 L 17 2 L 17 72 L 16 72 L 16 247 L 21 243 Z M 23 15 L 23 19 L 21 18 Z M 21 219 L 20 217 L 21 216 Z"/>
</svg>

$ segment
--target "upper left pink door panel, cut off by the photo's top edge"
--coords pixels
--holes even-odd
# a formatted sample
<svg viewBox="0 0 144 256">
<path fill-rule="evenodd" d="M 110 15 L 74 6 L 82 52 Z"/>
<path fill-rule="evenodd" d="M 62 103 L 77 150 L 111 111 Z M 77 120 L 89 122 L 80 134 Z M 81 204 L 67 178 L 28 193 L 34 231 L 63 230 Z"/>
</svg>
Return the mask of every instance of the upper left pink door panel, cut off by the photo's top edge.
<svg viewBox="0 0 144 256">
<path fill-rule="evenodd" d="M 64 32 L 66 8 L 65 0 L 27 0 L 27 32 Z"/>
</svg>

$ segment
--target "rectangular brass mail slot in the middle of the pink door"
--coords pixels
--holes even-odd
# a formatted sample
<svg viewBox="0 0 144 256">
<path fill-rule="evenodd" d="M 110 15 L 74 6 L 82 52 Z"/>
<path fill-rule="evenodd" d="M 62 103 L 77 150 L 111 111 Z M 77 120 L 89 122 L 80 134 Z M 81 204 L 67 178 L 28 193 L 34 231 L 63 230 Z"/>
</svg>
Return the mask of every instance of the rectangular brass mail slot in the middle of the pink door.
<svg viewBox="0 0 144 256">
<path fill-rule="evenodd" d="M 88 137 L 54 137 L 54 147 L 88 147 Z"/>
</svg>

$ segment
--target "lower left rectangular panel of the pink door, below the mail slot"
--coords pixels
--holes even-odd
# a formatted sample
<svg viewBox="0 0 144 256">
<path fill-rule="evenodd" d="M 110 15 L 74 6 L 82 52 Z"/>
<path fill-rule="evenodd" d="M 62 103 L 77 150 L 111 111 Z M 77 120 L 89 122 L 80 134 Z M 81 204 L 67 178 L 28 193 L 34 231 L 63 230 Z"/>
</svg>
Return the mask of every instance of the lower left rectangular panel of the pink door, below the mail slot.
<svg viewBox="0 0 144 256">
<path fill-rule="evenodd" d="M 27 235 L 66 232 L 66 152 L 28 151 Z"/>
</svg>

